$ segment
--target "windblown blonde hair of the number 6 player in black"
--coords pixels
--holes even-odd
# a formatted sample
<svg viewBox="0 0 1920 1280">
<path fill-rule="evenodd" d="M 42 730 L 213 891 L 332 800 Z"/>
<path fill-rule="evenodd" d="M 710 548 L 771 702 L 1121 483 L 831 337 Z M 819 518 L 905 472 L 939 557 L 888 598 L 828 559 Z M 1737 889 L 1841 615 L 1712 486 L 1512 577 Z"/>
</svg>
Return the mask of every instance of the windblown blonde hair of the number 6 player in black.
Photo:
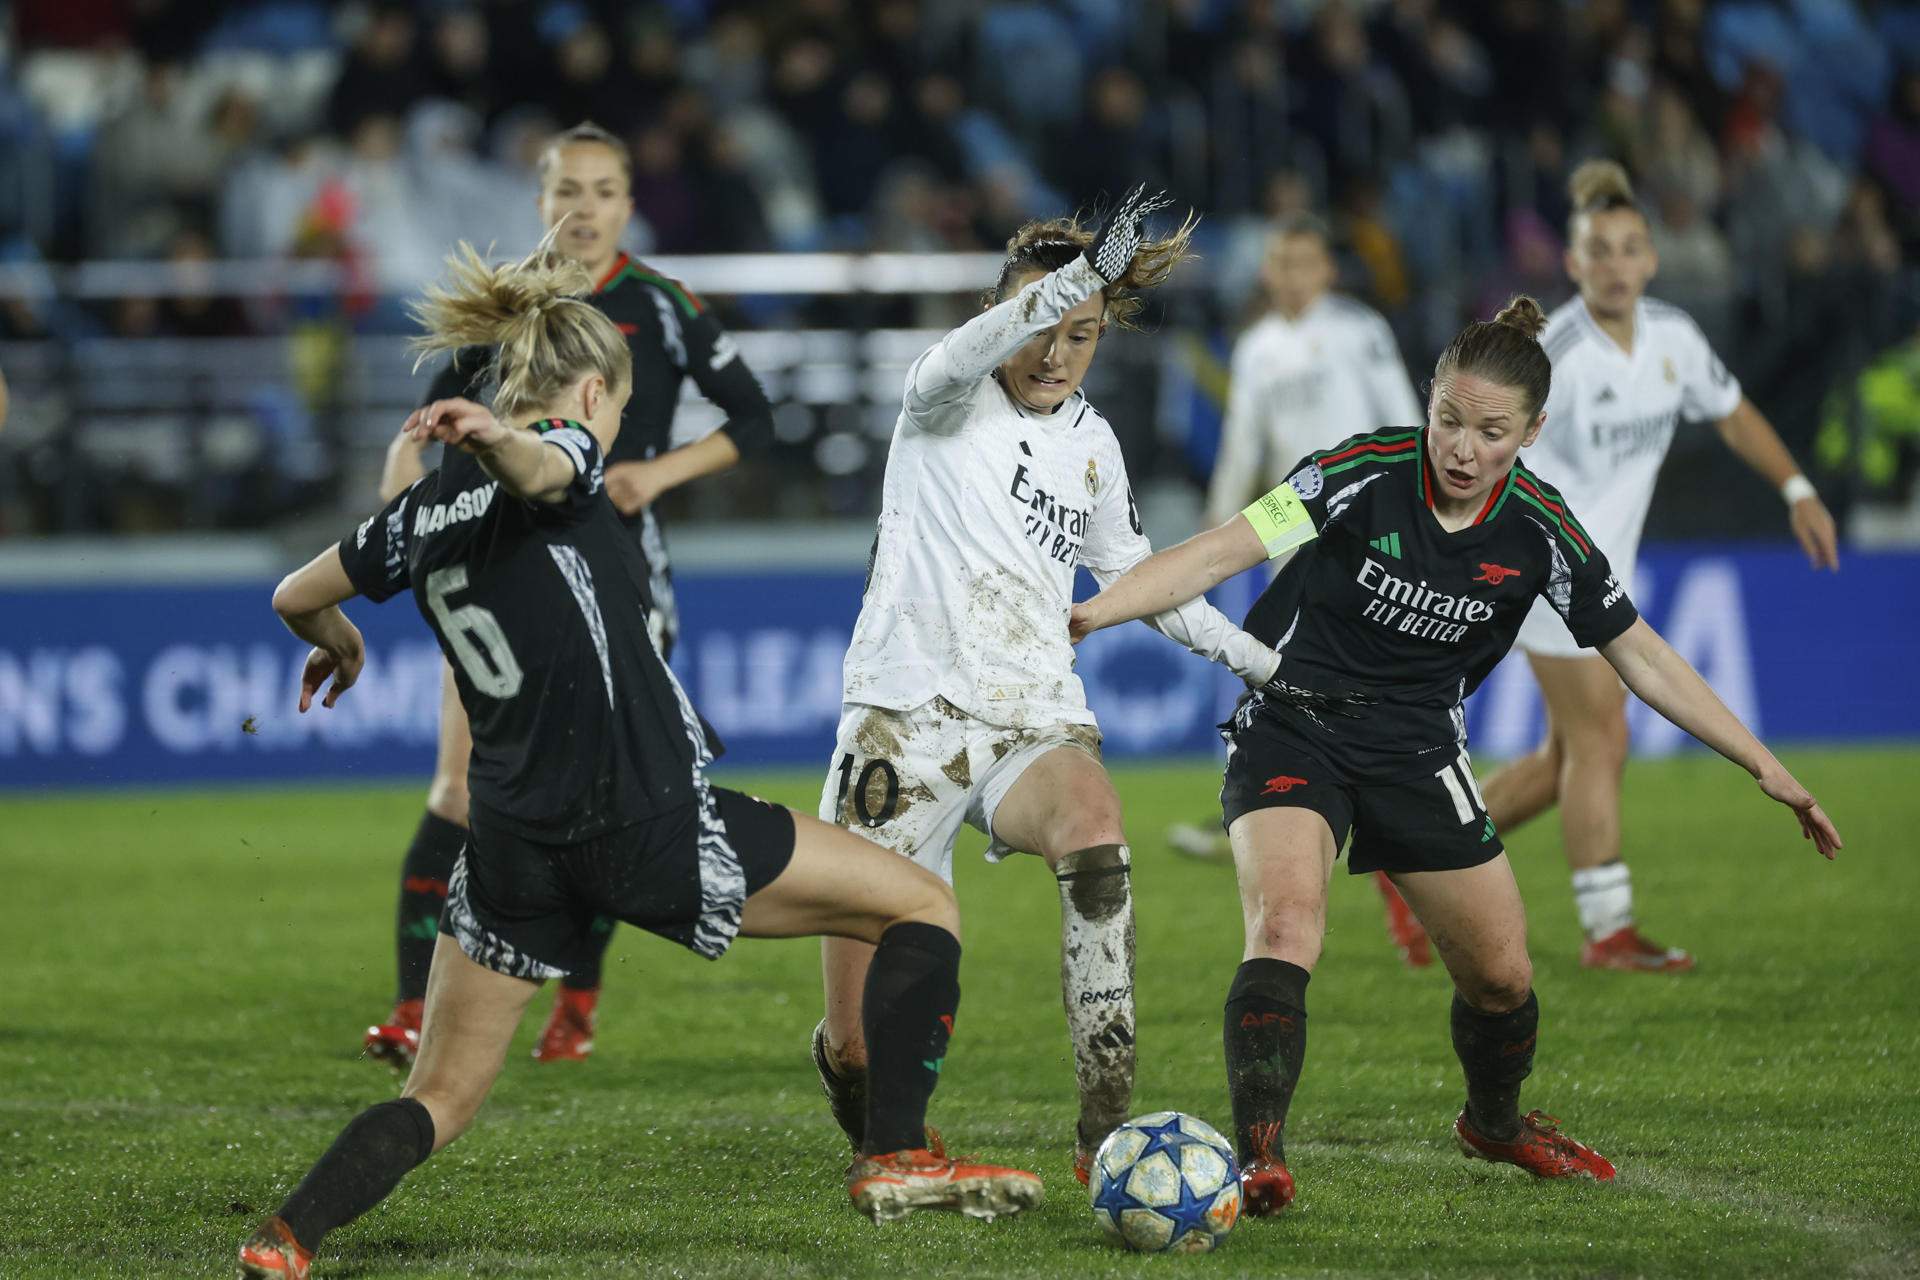
<svg viewBox="0 0 1920 1280">
<path fill-rule="evenodd" d="M 513 420 L 551 405 L 584 374 L 609 388 L 634 378 L 626 338 L 599 307 L 586 301 L 593 278 L 553 244 L 557 223 L 518 263 L 488 263 L 465 240 L 447 257 L 447 286 L 428 286 L 407 315 L 424 330 L 411 342 L 415 370 L 436 353 L 490 347 L 493 413 Z"/>
</svg>

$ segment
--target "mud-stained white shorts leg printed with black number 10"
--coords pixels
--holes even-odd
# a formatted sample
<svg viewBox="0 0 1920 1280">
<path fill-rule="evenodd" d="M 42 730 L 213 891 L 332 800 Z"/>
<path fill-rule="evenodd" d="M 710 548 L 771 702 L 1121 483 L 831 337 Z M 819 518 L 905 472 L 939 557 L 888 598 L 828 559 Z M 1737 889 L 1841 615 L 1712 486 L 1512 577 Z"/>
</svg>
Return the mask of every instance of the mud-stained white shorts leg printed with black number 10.
<svg viewBox="0 0 1920 1280">
<path fill-rule="evenodd" d="M 935 710 L 849 704 L 820 791 L 820 819 L 952 883 L 952 850 L 966 821 L 972 723 Z"/>
</svg>

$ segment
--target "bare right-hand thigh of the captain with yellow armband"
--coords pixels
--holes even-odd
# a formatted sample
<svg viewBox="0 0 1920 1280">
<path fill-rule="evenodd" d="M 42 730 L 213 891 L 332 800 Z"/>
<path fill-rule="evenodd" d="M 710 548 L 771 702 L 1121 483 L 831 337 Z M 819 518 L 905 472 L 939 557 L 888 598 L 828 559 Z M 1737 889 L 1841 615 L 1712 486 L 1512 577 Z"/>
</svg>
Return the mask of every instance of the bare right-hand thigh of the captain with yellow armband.
<svg viewBox="0 0 1920 1280">
<path fill-rule="evenodd" d="M 1388 875 L 1469 1004 L 1503 1011 L 1526 1000 L 1534 981 L 1526 906 L 1505 854 L 1473 867 Z"/>
</svg>

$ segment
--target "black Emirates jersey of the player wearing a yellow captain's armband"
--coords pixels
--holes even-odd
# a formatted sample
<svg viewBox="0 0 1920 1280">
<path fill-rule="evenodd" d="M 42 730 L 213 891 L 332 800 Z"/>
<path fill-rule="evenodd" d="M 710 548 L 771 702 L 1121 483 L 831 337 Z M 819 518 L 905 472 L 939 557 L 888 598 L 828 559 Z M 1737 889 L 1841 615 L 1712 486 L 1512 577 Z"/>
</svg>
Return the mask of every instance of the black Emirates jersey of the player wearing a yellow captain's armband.
<svg viewBox="0 0 1920 1280">
<path fill-rule="evenodd" d="M 1432 771 L 1436 754 L 1459 750 L 1461 702 L 1513 647 L 1534 597 L 1596 649 L 1640 616 L 1559 491 L 1519 462 L 1471 526 L 1440 528 L 1425 441 L 1425 430 L 1350 438 L 1248 509 L 1269 553 L 1300 545 L 1246 616 L 1281 654 L 1256 700 L 1373 781 Z"/>
</svg>

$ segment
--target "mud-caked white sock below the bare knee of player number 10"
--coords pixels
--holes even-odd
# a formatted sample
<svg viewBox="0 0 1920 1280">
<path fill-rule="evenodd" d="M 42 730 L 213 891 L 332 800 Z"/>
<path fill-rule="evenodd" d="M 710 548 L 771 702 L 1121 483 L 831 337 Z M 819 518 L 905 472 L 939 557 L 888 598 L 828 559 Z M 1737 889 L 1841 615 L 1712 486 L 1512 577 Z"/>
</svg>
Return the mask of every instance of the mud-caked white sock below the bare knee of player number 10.
<svg viewBox="0 0 1920 1280">
<path fill-rule="evenodd" d="M 1094 844 L 1060 879 L 1060 996 L 1073 1038 L 1079 1138 L 1098 1144 L 1133 1107 L 1133 883 L 1125 844 Z"/>
</svg>

